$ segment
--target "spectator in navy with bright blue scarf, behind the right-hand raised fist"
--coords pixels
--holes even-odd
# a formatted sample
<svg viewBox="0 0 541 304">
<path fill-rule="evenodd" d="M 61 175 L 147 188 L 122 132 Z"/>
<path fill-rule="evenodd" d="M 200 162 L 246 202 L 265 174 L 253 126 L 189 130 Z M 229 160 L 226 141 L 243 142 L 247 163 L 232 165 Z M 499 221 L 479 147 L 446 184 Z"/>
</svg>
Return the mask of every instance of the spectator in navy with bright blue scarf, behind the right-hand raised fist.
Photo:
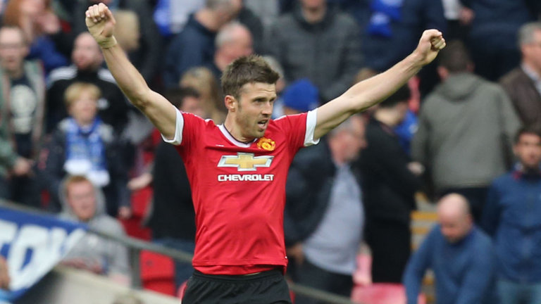
<svg viewBox="0 0 541 304">
<path fill-rule="evenodd" d="M 365 68 L 384 71 L 415 49 L 416 37 L 427 28 L 447 36 L 442 0 L 340 0 L 361 27 L 361 54 Z M 435 65 L 421 70 L 420 90 L 428 93 L 437 82 Z"/>
</svg>

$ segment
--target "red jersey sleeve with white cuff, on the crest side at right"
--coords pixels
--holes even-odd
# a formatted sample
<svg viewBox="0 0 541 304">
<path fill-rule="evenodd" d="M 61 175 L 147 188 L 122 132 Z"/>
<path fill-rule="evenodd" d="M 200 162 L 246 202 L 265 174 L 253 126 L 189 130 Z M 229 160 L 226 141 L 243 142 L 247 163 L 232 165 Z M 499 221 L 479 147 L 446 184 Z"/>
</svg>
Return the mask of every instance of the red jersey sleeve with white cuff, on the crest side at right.
<svg viewBox="0 0 541 304">
<path fill-rule="evenodd" d="M 311 146 L 319 143 L 314 140 L 313 134 L 316 131 L 316 110 L 307 113 L 282 116 L 275 120 L 287 134 L 292 150 L 297 151 L 304 146 Z"/>
</svg>

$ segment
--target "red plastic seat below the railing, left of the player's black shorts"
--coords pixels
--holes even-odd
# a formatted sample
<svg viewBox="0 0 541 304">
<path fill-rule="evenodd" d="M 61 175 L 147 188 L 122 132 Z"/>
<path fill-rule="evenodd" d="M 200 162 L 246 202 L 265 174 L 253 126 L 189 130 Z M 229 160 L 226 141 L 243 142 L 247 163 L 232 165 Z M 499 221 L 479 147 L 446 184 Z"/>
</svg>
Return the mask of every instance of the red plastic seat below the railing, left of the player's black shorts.
<svg viewBox="0 0 541 304">
<path fill-rule="evenodd" d="M 141 283 L 144 289 L 176 296 L 175 264 L 166 255 L 141 251 Z"/>
</svg>

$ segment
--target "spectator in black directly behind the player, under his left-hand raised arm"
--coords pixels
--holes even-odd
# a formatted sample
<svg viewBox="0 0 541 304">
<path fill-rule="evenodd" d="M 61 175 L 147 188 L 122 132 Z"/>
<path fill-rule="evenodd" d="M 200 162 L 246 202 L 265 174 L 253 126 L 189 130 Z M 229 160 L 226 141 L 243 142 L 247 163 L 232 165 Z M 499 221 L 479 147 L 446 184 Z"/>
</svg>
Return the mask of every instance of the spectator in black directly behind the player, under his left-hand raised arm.
<svg viewBox="0 0 541 304">
<path fill-rule="evenodd" d="M 207 118 L 197 91 L 191 88 L 168 91 L 168 100 L 186 113 Z M 156 243 L 194 253 L 195 211 L 186 169 L 174 146 L 161 142 L 154 158 L 154 199 L 149 227 Z M 194 272 L 190 263 L 176 262 L 175 279 L 180 286 Z"/>
</svg>

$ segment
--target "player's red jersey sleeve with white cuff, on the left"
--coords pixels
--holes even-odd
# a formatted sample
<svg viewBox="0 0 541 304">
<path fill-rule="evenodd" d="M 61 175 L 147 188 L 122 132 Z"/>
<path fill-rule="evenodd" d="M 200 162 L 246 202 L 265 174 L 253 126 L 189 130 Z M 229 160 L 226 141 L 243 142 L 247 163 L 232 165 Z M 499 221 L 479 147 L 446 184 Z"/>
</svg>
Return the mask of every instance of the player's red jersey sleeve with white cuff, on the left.
<svg viewBox="0 0 541 304">
<path fill-rule="evenodd" d="M 197 134 L 203 132 L 206 122 L 203 118 L 192 113 L 184 113 L 177 110 L 177 118 L 175 122 L 175 137 L 167 139 L 161 134 L 161 138 L 166 143 L 174 144 L 175 146 L 188 147 L 191 146 Z"/>
</svg>

